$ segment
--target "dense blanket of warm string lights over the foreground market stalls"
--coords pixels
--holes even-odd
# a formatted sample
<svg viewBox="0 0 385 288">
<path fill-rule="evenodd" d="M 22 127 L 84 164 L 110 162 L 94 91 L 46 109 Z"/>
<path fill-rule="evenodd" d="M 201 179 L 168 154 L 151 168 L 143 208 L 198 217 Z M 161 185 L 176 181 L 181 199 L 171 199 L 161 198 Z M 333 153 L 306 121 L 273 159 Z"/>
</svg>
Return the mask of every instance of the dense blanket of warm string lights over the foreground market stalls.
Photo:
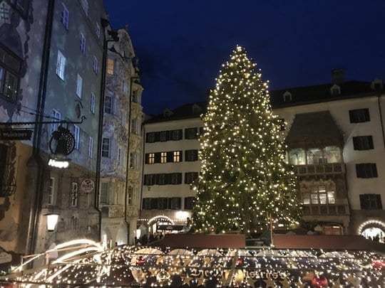
<svg viewBox="0 0 385 288">
<path fill-rule="evenodd" d="M 172 249 L 122 246 L 68 252 L 1 283 L 170 287 L 384 287 L 384 256 L 365 251 Z M 20 271 L 15 270 L 15 271 Z"/>
</svg>

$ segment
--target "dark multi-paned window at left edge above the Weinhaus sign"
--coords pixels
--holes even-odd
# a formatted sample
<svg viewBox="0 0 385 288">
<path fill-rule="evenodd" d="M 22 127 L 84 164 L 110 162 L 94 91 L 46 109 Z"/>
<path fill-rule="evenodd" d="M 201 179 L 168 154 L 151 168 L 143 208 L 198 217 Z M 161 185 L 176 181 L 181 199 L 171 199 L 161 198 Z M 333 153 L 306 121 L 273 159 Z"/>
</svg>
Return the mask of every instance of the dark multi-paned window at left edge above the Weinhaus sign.
<svg viewBox="0 0 385 288">
<path fill-rule="evenodd" d="M 0 48 L 0 96 L 15 102 L 19 89 L 20 61 Z"/>
</svg>

